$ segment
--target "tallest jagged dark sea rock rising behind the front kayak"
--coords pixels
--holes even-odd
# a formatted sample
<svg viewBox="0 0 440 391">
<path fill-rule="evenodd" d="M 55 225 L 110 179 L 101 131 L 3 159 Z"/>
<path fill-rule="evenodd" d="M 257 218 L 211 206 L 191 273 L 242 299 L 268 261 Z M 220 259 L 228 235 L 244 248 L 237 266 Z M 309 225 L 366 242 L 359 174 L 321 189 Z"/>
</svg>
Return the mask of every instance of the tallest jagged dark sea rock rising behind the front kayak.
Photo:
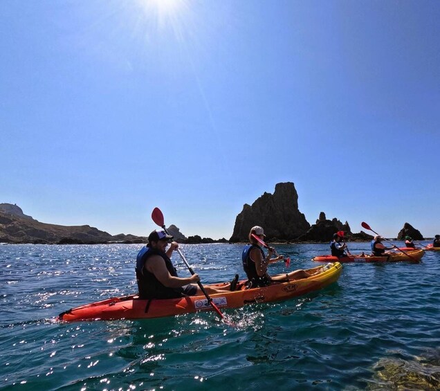
<svg viewBox="0 0 440 391">
<path fill-rule="evenodd" d="M 310 228 L 298 209 L 298 194 L 292 182 L 277 183 L 273 194 L 265 192 L 252 206 L 244 204 L 235 219 L 230 242 L 246 242 L 253 226 L 262 226 L 267 240 L 295 239 Z"/>
</svg>

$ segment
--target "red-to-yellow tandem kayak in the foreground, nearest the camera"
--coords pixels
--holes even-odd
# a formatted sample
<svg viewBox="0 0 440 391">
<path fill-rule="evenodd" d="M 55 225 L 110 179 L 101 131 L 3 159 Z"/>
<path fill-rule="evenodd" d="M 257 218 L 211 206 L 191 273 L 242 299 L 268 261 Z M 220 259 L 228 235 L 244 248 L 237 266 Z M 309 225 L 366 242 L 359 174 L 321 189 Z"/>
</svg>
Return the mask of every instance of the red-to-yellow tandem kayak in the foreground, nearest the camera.
<svg viewBox="0 0 440 391">
<path fill-rule="evenodd" d="M 318 291 L 338 280 L 342 271 L 339 262 L 307 269 L 315 273 L 309 278 L 273 284 L 268 287 L 246 289 L 246 280 L 237 284 L 236 291 L 224 291 L 210 295 L 219 309 L 238 308 L 256 302 L 275 302 L 286 300 L 309 292 Z M 205 285 L 221 287 L 225 283 Z M 175 299 L 141 300 L 137 295 L 109 298 L 99 302 L 82 305 L 60 313 L 58 320 L 118 320 L 143 319 L 174 316 L 181 313 L 210 311 L 212 306 L 204 295 L 186 296 Z"/>
</svg>

